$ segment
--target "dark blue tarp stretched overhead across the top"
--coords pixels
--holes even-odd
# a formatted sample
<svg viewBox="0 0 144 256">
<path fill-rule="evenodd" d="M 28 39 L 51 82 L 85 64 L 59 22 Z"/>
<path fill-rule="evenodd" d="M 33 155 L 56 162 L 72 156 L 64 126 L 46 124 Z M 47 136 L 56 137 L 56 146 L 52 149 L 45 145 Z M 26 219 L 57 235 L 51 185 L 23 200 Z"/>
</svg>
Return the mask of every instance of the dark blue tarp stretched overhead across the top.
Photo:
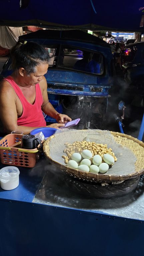
<svg viewBox="0 0 144 256">
<path fill-rule="evenodd" d="M 143 6 L 142 0 L 0 0 L 0 26 L 142 32 Z"/>
</svg>

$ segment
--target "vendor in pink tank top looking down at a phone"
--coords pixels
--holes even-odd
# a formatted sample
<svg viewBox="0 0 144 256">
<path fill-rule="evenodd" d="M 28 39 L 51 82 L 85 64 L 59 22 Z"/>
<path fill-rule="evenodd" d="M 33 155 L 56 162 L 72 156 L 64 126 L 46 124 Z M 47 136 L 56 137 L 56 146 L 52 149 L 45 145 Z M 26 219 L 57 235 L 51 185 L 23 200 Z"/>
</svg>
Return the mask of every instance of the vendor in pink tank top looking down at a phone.
<svg viewBox="0 0 144 256">
<path fill-rule="evenodd" d="M 58 113 L 49 102 L 47 81 L 47 50 L 34 42 L 18 42 L 11 50 L 13 73 L 0 83 L 0 119 L 10 133 L 22 130 L 29 134 L 38 127 L 59 128 L 71 121 Z M 43 112 L 57 123 L 46 125 Z"/>
</svg>

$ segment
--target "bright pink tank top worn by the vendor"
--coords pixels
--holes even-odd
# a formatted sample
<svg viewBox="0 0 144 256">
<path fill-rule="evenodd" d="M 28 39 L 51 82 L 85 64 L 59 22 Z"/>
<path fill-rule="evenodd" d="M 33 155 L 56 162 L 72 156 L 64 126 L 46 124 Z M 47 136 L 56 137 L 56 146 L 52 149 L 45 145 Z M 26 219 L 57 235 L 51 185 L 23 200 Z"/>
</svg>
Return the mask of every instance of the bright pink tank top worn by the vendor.
<svg viewBox="0 0 144 256">
<path fill-rule="evenodd" d="M 13 87 L 23 106 L 23 113 L 21 117 L 18 117 L 17 125 L 23 125 L 23 126 L 29 126 L 29 127 L 46 126 L 46 121 L 44 119 L 43 112 L 41 110 L 43 97 L 42 97 L 39 84 L 35 85 L 36 98 L 35 98 L 34 104 L 31 104 L 27 101 L 21 89 L 15 83 L 15 81 L 11 76 L 4 78 L 4 80 L 8 81 L 10 85 Z"/>
</svg>

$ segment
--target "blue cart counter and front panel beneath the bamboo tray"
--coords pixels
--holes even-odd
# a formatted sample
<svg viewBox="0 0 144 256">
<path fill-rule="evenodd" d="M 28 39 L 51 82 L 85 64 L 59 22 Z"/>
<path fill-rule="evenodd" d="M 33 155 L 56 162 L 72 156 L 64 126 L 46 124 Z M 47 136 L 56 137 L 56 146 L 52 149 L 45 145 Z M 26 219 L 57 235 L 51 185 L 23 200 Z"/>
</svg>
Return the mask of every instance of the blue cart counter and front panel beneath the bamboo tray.
<svg viewBox="0 0 144 256">
<path fill-rule="evenodd" d="M 19 170 L 19 186 L 0 189 L 0 256 L 143 255 L 144 176 L 123 197 L 96 199 L 44 156 Z"/>
</svg>

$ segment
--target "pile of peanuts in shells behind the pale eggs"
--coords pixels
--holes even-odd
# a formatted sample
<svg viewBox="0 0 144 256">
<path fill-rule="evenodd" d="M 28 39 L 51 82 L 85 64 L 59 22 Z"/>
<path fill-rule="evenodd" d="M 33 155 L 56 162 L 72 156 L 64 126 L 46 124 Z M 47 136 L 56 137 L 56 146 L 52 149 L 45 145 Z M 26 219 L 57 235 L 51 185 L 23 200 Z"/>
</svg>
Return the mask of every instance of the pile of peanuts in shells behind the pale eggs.
<svg viewBox="0 0 144 256">
<path fill-rule="evenodd" d="M 65 160 L 65 164 L 68 163 L 68 161 L 71 159 L 71 155 L 73 153 L 81 153 L 84 149 L 88 149 L 92 152 L 92 156 L 94 155 L 100 155 L 103 157 L 104 154 L 112 155 L 115 162 L 117 161 L 117 158 L 115 154 L 112 152 L 111 148 L 107 148 L 107 144 L 97 144 L 95 142 L 88 142 L 88 141 L 75 141 L 73 144 L 65 143 L 66 148 L 64 149 L 64 153 L 67 154 L 67 156 L 62 156 Z M 103 161 L 102 161 L 103 162 Z"/>
</svg>

